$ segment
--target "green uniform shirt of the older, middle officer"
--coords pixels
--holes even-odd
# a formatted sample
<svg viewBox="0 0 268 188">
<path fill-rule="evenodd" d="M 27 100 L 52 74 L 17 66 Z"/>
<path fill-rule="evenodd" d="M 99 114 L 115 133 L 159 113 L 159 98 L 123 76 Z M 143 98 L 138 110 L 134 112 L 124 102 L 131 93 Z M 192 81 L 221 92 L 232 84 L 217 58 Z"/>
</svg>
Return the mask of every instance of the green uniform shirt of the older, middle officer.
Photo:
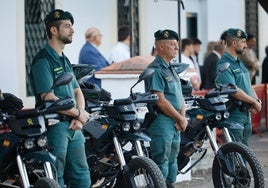
<svg viewBox="0 0 268 188">
<path fill-rule="evenodd" d="M 155 72 L 150 79 L 145 80 L 145 90 L 163 93 L 176 110 L 181 109 L 183 104 L 181 82 L 174 68 L 160 56 L 156 56 L 149 67 L 154 68 Z"/>
</svg>

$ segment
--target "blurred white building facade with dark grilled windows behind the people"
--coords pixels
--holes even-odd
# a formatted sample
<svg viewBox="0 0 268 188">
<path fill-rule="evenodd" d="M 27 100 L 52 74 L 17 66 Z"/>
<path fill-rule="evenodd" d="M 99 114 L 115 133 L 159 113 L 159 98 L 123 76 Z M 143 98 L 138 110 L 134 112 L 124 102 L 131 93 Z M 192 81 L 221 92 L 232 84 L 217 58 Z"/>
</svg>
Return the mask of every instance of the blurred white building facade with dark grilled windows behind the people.
<svg viewBox="0 0 268 188">
<path fill-rule="evenodd" d="M 32 3 L 42 4 L 40 10 L 31 8 Z M 64 50 L 72 63 L 78 62 L 88 27 L 100 29 L 103 34 L 100 51 L 106 54 L 117 41 L 118 27 L 131 16 L 134 17 L 133 55 L 149 55 L 154 44 L 154 32 L 169 28 L 180 32 L 180 38 L 196 36 L 202 41 L 199 56 L 202 62 L 209 41 L 218 40 L 221 33 L 230 27 L 238 27 L 257 34 L 258 57 L 263 60 L 264 48 L 268 44 L 265 33 L 268 30 L 268 15 L 256 1 L 184 0 L 183 3 L 184 9 L 180 6 L 179 11 L 177 0 L 0 0 L 0 16 L 5 19 L 0 30 L 0 89 L 20 97 L 25 107 L 34 106 L 34 98 L 29 96 L 26 82 L 29 71 L 27 62 L 31 61 L 28 54 L 30 49 L 30 53 L 38 51 L 32 45 L 42 46 L 45 42 L 42 38 L 45 30 L 40 30 L 40 27 L 44 12 L 52 7 L 67 10 L 74 16 L 73 42 Z M 254 6 L 252 13 L 250 10 Z M 33 16 L 36 12 L 39 15 L 37 20 Z M 251 14 L 255 16 L 249 16 Z M 251 27 L 250 22 L 255 25 Z"/>
</svg>

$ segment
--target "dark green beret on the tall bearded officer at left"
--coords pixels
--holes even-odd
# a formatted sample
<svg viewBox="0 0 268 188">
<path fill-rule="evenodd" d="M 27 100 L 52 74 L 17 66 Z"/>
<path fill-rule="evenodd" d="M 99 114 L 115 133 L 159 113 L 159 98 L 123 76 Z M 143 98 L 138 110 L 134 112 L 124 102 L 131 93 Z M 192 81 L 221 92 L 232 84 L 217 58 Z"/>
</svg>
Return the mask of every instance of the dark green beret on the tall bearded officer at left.
<svg viewBox="0 0 268 188">
<path fill-rule="evenodd" d="M 74 18 L 72 14 L 67 11 L 64 12 L 63 10 L 60 9 L 55 9 L 51 11 L 48 15 L 46 15 L 45 24 L 48 24 L 56 20 L 70 20 L 72 24 L 74 24 Z"/>
</svg>

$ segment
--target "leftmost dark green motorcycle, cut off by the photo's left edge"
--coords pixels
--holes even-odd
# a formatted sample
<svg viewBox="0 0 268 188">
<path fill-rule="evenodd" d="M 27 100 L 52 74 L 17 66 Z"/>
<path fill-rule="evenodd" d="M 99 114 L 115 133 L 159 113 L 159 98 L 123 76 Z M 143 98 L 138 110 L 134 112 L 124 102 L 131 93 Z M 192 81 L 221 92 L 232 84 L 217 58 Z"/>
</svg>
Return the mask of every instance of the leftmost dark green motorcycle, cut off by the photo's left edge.
<svg viewBox="0 0 268 188">
<path fill-rule="evenodd" d="M 71 79 L 71 74 L 63 74 L 51 90 Z M 47 145 L 46 128 L 58 123 L 57 111 L 74 107 L 74 101 L 43 101 L 34 109 L 21 109 L 20 99 L 8 93 L 1 96 L 0 187 L 58 188 L 56 158 L 50 153 L 53 148 Z"/>
</svg>

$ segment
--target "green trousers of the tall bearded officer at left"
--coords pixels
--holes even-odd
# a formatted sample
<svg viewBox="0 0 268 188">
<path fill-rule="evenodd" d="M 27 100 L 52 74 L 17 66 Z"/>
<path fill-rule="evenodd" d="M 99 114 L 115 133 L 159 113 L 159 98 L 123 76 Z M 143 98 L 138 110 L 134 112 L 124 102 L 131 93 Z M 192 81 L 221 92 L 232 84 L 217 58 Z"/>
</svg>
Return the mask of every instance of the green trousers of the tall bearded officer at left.
<svg viewBox="0 0 268 188">
<path fill-rule="evenodd" d="M 85 138 L 82 131 L 72 131 L 69 122 L 60 122 L 48 128 L 48 143 L 54 147 L 58 182 L 64 187 L 64 172 L 70 188 L 89 188 L 90 172 L 85 154 Z"/>
</svg>

